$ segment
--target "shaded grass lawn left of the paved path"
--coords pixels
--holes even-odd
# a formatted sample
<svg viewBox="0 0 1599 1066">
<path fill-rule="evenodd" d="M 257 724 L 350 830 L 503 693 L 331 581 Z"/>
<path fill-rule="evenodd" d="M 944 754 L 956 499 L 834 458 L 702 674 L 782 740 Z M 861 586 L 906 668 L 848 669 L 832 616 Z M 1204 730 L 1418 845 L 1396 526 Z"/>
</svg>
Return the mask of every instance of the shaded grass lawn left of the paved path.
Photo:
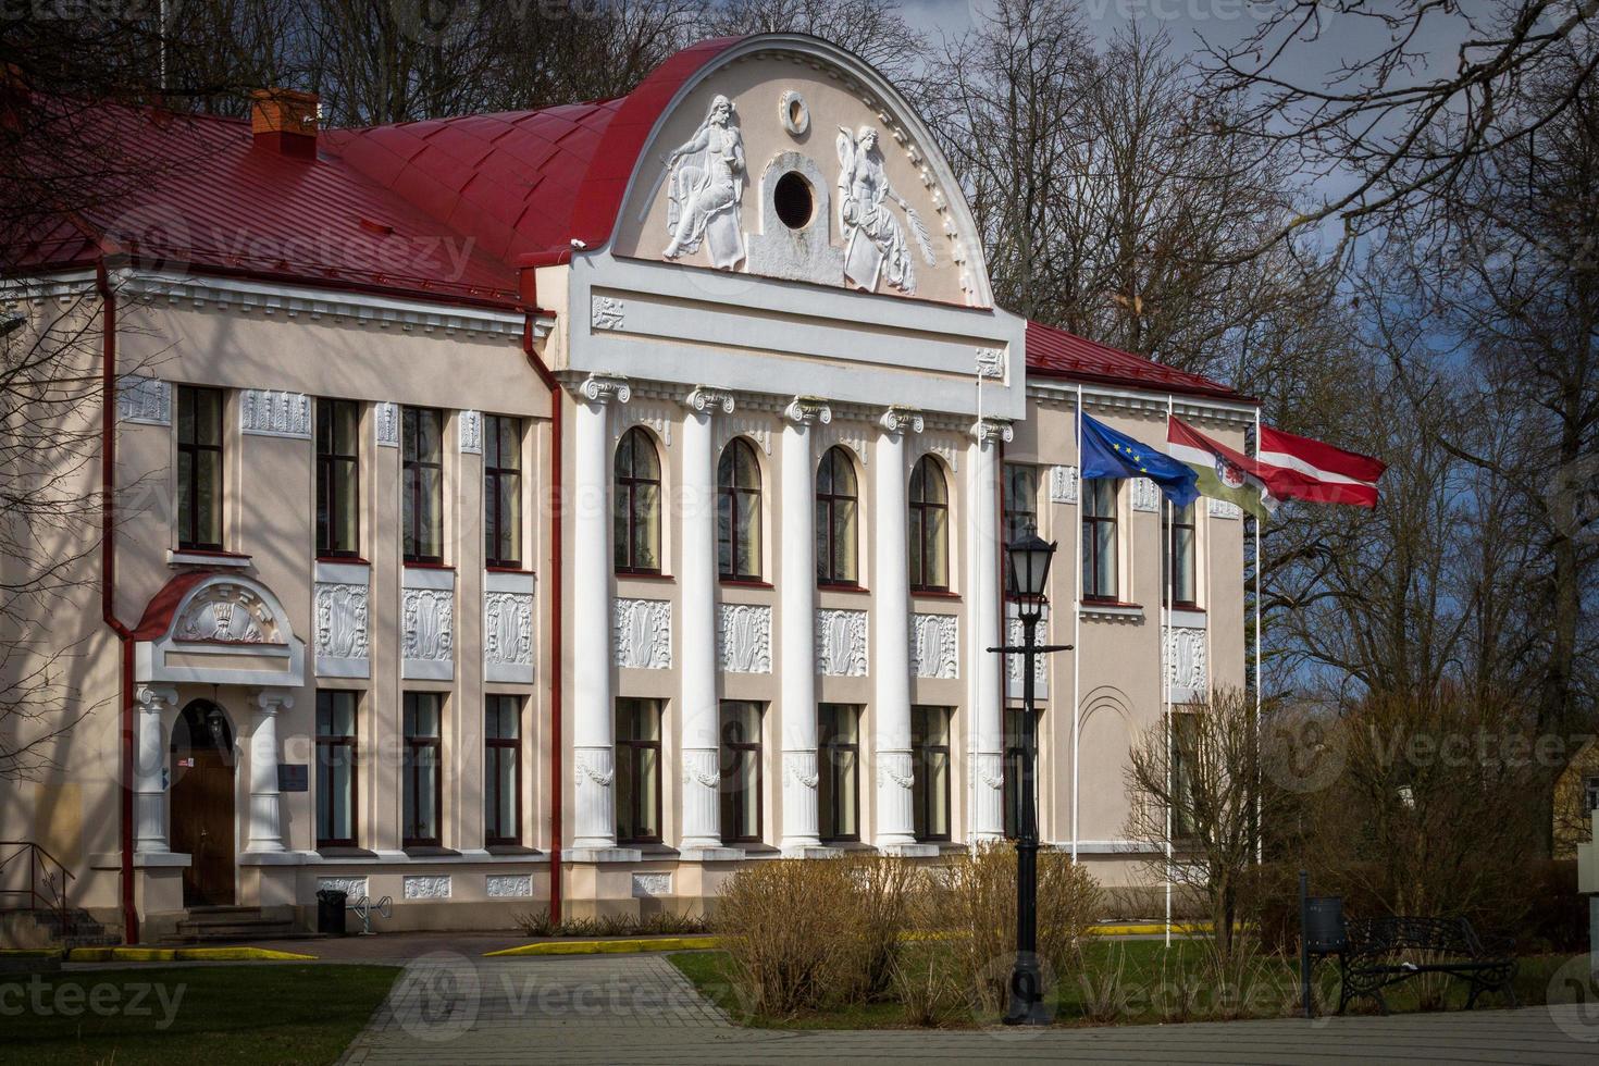
<svg viewBox="0 0 1599 1066">
<path fill-rule="evenodd" d="M 0 1058 L 46 1063 L 331 1063 L 400 970 L 176 965 L 0 977 Z"/>
</svg>

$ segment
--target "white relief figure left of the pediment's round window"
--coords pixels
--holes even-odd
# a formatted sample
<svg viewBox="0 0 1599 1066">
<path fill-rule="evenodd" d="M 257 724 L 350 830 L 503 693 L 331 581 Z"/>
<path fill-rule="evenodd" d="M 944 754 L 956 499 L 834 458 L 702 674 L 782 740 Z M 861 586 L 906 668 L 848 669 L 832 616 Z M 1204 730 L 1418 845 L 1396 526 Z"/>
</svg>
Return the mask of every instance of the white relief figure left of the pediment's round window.
<svg viewBox="0 0 1599 1066">
<path fill-rule="evenodd" d="M 744 259 L 739 205 L 744 198 L 744 137 L 732 101 L 716 96 L 694 136 L 667 157 L 665 257 L 699 251 L 705 241 L 712 265 L 732 270 Z"/>
</svg>

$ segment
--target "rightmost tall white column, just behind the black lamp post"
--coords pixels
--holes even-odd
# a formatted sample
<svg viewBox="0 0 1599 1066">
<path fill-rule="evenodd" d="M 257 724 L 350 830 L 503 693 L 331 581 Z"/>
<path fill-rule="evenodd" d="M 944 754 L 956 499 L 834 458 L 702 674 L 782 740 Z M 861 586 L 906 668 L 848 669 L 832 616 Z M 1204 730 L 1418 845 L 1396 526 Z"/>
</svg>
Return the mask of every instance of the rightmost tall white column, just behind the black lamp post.
<svg viewBox="0 0 1599 1066">
<path fill-rule="evenodd" d="M 1003 657 L 999 647 L 999 467 L 996 443 L 1009 441 L 1011 424 L 983 419 L 972 427 L 967 449 L 971 518 L 967 529 L 969 585 L 972 588 L 972 842 L 1004 836 L 1004 721 L 999 695 Z"/>
</svg>

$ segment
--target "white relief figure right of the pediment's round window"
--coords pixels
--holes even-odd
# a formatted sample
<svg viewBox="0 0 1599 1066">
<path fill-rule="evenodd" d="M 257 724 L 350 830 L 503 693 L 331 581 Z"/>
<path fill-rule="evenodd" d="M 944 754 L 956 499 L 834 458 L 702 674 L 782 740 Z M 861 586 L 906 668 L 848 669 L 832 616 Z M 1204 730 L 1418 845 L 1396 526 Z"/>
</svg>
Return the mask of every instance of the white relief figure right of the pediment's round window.
<svg viewBox="0 0 1599 1066">
<path fill-rule="evenodd" d="M 916 291 L 916 264 L 899 219 L 884 201 L 892 200 L 905 213 L 923 261 L 934 267 L 932 235 L 916 209 L 889 185 L 883 169 L 878 131 L 862 126 L 859 133 L 838 131 L 838 221 L 846 233 L 844 280 L 867 292 L 876 292 L 887 281 L 900 292 Z"/>
</svg>

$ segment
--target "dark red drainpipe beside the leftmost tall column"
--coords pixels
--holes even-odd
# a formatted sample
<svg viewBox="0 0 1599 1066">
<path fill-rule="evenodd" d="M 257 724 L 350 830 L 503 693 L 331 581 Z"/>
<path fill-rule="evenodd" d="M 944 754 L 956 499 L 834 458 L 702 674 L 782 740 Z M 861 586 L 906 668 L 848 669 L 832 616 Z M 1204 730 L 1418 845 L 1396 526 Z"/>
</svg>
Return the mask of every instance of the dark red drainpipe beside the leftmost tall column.
<svg viewBox="0 0 1599 1066">
<path fill-rule="evenodd" d="M 523 256 L 516 261 L 521 275 L 521 302 L 526 320 L 521 328 L 521 350 L 528 356 L 528 364 L 539 376 L 544 387 L 550 390 L 550 924 L 561 922 L 561 831 L 563 831 L 563 758 L 561 758 L 561 698 L 564 676 L 561 660 L 564 657 L 564 558 L 563 558 L 563 524 L 566 519 L 566 479 L 563 473 L 563 403 L 561 384 L 555 380 L 550 368 L 544 364 L 532 347 L 532 320 L 539 313 L 539 281 L 537 267 L 555 267 L 571 261 L 569 251 Z"/>
</svg>

